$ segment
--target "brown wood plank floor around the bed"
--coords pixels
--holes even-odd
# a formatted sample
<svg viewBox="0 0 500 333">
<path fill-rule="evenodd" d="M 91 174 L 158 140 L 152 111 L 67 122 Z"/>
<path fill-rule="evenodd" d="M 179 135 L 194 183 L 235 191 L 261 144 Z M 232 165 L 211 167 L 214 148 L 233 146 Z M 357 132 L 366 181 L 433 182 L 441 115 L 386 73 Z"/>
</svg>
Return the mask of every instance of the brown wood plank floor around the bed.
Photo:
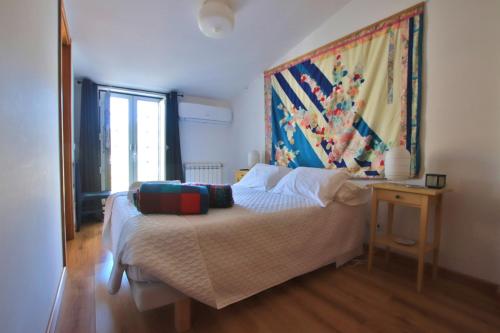
<svg viewBox="0 0 500 333">
<path fill-rule="evenodd" d="M 173 307 L 140 313 L 124 280 L 106 292 L 110 255 L 101 224 L 83 225 L 68 244 L 68 276 L 57 332 L 174 332 Z M 415 291 L 415 262 L 376 256 L 293 279 L 215 310 L 193 303 L 191 332 L 500 332 L 500 297 L 493 287 L 442 272 Z"/>
</svg>

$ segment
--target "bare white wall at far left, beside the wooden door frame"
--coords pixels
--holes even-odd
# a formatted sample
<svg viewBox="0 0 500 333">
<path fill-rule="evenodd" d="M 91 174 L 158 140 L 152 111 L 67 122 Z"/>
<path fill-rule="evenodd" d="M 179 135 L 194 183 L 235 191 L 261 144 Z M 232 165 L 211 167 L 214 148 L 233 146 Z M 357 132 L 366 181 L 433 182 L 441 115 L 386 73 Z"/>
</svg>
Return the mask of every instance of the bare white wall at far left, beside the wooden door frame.
<svg viewBox="0 0 500 333">
<path fill-rule="evenodd" d="M 44 332 L 62 272 L 58 4 L 0 4 L 0 330 Z"/>
</svg>

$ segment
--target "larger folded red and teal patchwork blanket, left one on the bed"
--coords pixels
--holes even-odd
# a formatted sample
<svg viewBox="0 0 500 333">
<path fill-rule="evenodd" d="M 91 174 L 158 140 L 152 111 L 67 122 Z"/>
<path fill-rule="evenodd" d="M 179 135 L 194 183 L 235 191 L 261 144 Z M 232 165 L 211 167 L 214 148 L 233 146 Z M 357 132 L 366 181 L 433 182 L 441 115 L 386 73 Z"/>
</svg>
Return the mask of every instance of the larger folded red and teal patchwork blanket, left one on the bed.
<svg viewBox="0 0 500 333">
<path fill-rule="evenodd" d="M 208 189 L 195 185 L 143 183 L 137 190 L 136 206 L 143 214 L 206 214 Z"/>
</svg>

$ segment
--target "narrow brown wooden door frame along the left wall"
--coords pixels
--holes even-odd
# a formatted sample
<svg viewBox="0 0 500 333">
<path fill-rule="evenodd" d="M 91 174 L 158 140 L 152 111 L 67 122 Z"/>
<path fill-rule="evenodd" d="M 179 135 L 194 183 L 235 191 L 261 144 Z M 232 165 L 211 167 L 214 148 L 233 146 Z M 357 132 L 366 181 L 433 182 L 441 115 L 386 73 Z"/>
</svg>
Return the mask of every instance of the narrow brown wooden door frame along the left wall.
<svg viewBox="0 0 500 333">
<path fill-rule="evenodd" d="M 66 241 L 75 237 L 75 212 L 73 192 L 73 139 L 72 139 L 72 64 L 71 37 L 63 1 L 60 1 L 60 99 L 59 139 L 61 164 L 61 214 L 63 229 L 63 250 L 65 258 Z"/>
</svg>

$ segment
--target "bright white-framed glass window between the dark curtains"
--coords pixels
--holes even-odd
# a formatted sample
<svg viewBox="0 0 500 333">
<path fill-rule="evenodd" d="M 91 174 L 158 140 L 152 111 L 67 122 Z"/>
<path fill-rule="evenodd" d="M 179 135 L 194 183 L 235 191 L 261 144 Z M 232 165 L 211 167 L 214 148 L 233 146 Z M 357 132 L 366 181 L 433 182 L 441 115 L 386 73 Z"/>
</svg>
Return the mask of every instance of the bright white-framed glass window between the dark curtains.
<svg viewBox="0 0 500 333">
<path fill-rule="evenodd" d="M 102 186 L 126 191 L 135 181 L 165 179 L 165 98 L 101 90 Z"/>
</svg>

